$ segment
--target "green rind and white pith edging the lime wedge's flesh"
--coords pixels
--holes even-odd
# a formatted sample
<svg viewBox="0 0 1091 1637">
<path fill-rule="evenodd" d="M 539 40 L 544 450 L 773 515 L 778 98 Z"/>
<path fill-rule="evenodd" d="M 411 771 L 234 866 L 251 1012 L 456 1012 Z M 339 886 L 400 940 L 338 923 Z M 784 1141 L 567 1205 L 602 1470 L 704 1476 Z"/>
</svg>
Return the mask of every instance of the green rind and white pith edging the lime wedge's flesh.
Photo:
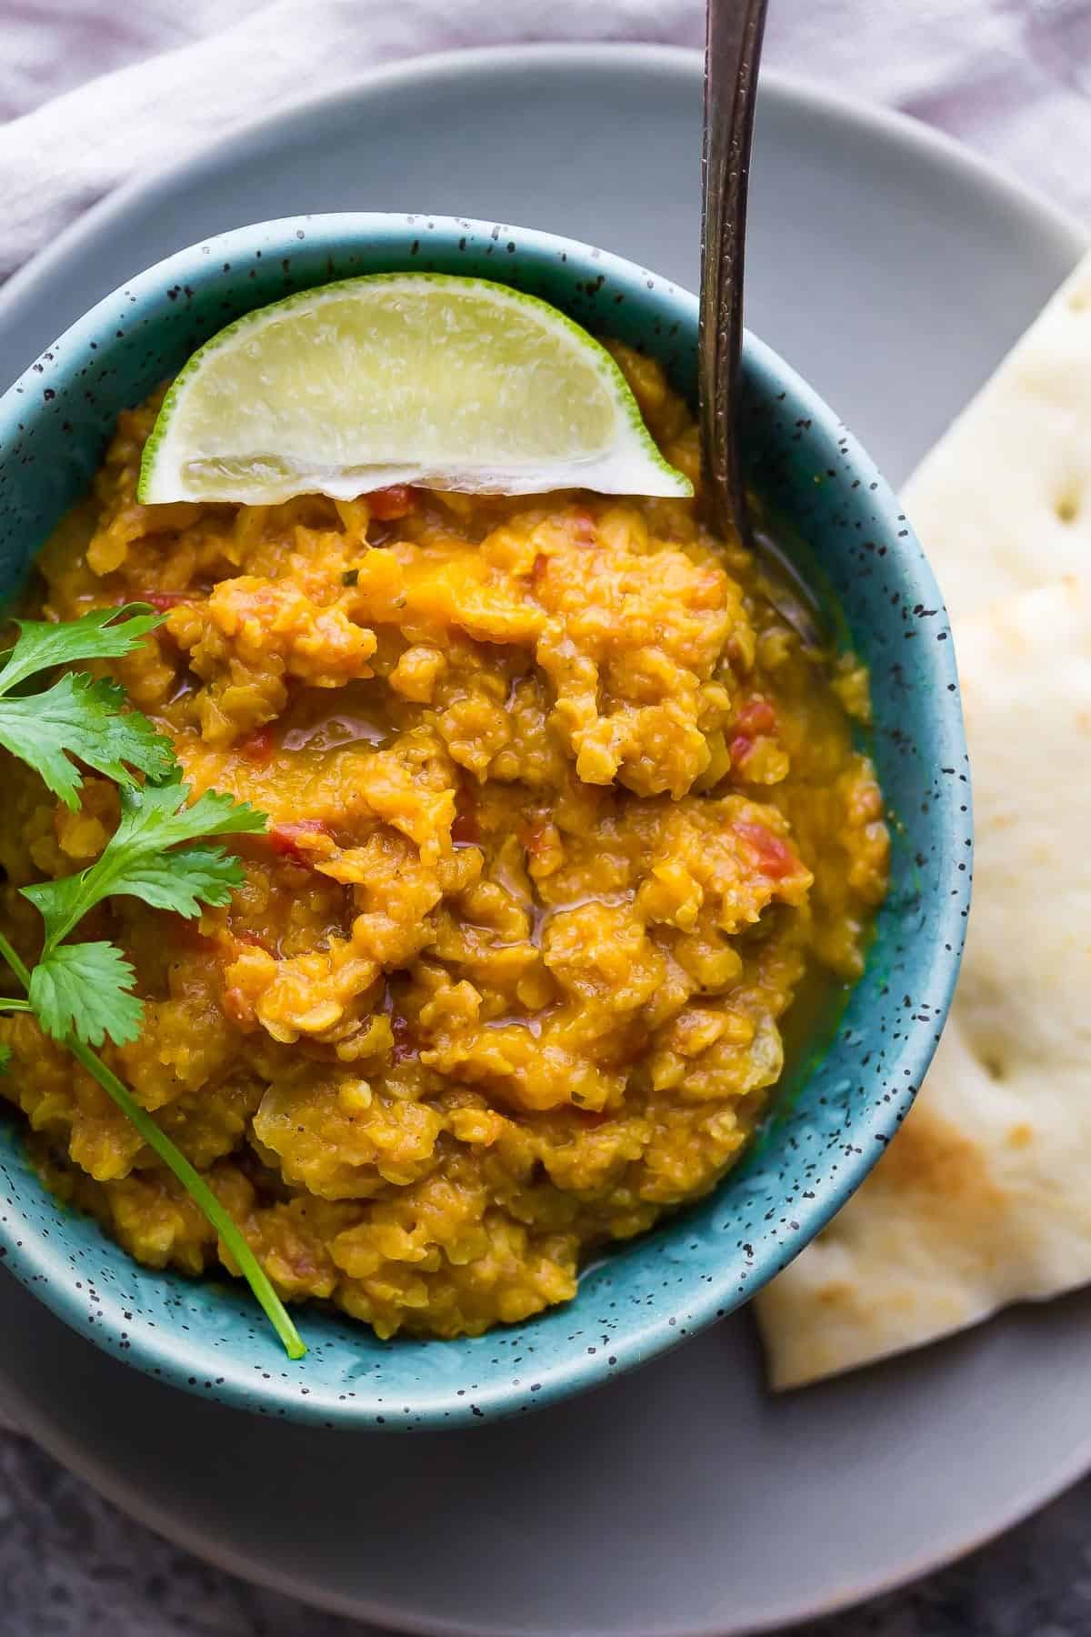
<svg viewBox="0 0 1091 1637">
<path fill-rule="evenodd" d="M 281 324 L 286 316 L 312 316 L 321 313 L 322 306 L 353 296 L 363 301 L 371 296 L 378 296 L 379 301 L 386 298 L 389 304 L 399 295 L 420 295 L 425 290 L 438 290 L 440 295 L 448 293 L 460 301 L 468 296 L 478 298 L 483 311 L 483 345 L 497 334 L 497 316 L 502 322 L 505 309 L 523 321 L 530 319 L 541 336 L 556 339 L 558 345 L 572 355 L 574 381 L 589 385 L 594 380 L 602 388 L 604 399 L 613 413 L 608 440 L 577 457 L 543 460 L 505 457 L 497 463 L 468 449 L 465 457 L 460 452 L 458 458 L 448 455 L 442 462 L 420 462 L 412 458 L 411 449 L 406 449 L 406 458 L 399 460 L 365 458 L 324 465 L 312 457 L 306 462 L 293 460 L 283 450 L 278 453 L 273 449 L 239 449 L 227 455 L 222 447 L 216 452 L 201 452 L 186 445 L 186 439 L 180 435 L 178 427 L 185 411 L 206 385 L 209 365 L 224 362 L 224 354 L 242 347 L 252 360 L 254 349 L 260 352 L 262 332 Z M 437 314 L 438 311 L 440 306 Z M 308 414 L 311 413 L 317 416 L 327 413 L 321 396 L 309 406 Z M 245 421 L 245 416 L 240 419 Z M 491 494 L 541 494 L 563 488 L 677 498 L 689 498 L 694 493 L 690 481 L 676 471 L 656 447 L 636 398 L 607 349 L 558 308 L 486 278 L 455 273 L 368 273 L 337 280 L 317 290 L 296 291 L 245 313 L 206 340 L 185 363 L 164 399 L 144 447 L 137 498 L 146 504 L 188 499 L 276 504 L 304 493 L 352 499 L 394 483 Z"/>
</svg>

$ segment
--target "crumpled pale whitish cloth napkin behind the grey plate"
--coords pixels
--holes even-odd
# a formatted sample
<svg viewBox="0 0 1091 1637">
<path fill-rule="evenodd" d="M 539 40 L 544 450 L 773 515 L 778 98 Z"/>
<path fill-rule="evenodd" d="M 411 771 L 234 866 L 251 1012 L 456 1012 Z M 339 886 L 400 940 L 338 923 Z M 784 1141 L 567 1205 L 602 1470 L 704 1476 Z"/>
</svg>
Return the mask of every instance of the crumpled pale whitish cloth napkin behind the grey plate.
<svg viewBox="0 0 1091 1637">
<path fill-rule="evenodd" d="M 519 41 L 697 46 L 703 11 L 703 0 L 0 0 L 0 278 L 128 177 L 378 64 Z M 765 61 L 918 113 L 1091 214 L 1091 0 L 772 0 Z"/>
</svg>

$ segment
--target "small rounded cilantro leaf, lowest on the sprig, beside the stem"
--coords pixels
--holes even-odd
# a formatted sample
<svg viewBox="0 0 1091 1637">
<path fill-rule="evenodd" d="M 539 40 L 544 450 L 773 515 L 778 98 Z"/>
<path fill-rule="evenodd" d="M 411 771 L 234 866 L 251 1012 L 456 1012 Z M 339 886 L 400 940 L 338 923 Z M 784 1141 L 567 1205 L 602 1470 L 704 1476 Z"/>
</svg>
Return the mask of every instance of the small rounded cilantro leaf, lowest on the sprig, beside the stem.
<svg viewBox="0 0 1091 1637">
<path fill-rule="evenodd" d="M 113 943 L 65 943 L 31 972 L 29 1000 L 54 1039 L 70 1035 L 101 1046 L 106 1035 L 124 1046 L 141 1033 L 144 1007 L 131 994 L 136 974 Z"/>
</svg>

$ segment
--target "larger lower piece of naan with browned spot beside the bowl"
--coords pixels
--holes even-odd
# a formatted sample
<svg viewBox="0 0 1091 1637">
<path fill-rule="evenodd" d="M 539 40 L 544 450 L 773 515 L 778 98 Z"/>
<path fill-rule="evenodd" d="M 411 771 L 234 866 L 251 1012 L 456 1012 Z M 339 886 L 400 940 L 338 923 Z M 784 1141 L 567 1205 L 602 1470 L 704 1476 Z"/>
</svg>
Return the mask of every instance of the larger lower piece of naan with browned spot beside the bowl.
<svg viewBox="0 0 1091 1637">
<path fill-rule="evenodd" d="M 890 1151 L 757 1298 L 798 1387 L 1091 1280 L 1091 581 L 962 622 L 977 859 L 950 1021 Z"/>
</svg>

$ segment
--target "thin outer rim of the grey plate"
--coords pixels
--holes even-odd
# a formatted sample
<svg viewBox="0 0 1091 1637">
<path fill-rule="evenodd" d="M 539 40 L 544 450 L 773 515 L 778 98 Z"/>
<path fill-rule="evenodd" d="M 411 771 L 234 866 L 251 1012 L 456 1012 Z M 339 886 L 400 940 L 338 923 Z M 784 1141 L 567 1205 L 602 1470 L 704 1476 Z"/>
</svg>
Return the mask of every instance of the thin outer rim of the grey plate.
<svg viewBox="0 0 1091 1637">
<path fill-rule="evenodd" d="M 509 67 L 525 67 L 528 62 L 540 65 L 546 72 L 554 69 L 584 69 L 590 72 L 599 69 L 604 72 L 617 69 L 644 69 L 653 75 L 666 75 L 679 82 L 694 82 L 700 77 L 700 61 L 698 51 L 684 46 L 571 43 L 484 46 L 469 51 L 430 52 L 371 69 L 360 74 L 337 92 L 317 93 L 316 97 L 293 103 L 283 113 L 265 115 L 247 121 L 232 131 L 226 131 L 195 147 L 190 154 L 173 164 L 162 167 L 152 175 L 134 177 L 98 200 L 82 216 L 65 226 L 49 246 L 43 247 L 34 257 L 31 257 L 31 260 L 26 262 L 25 267 L 21 267 L 0 288 L 0 326 L 7 322 L 8 309 L 16 306 L 25 295 L 29 295 L 39 278 L 47 278 L 57 264 L 65 262 L 74 254 L 79 254 L 80 246 L 95 239 L 101 229 L 108 229 L 114 218 L 124 219 L 134 205 L 142 206 L 152 203 L 157 195 L 167 195 L 182 178 L 193 172 L 200 172 L 203 167 L 231 164 L 236 157 L 239 157 L 240 151 L 245 152 L 250 147 L 260 149 L 267 136 L 273 131 L 283 131 L 285 128 L 291 129 L 293 124 L 304 124 L 316 115 L 329 116 L 332 110 L 342 106 L 350 108 L 360 98 L 375 92 L 412 87 L 420 80 L 435 80 L 437 75 L 450 79 L 481 70 L 502 72 Z M 823 121 L 836 123 L 841 128 L 849 126 L 854 133 L 860 136 L 865 134 L 872 139 L 882 138 L 885 142 L 893 144 L 903 152 L 911 149 L 916 156 L 924 159 L 924 162 L 937 164 L 949 172 L 954 170 L 968 187 L 990 193 L 999 206 L 1008 208 L 1016 214 L 1032 216 L 1039 224 L 1039 231 L 1052 234 L 1058 249 L 1063 247 L 1065 254 L 1071 255 L 1073 262 L 1088 247 L 1088 244 L 1091 244 L 1091 229 L 1075 214 L 1066 211 L 1063 206 L 1055 205 L 1022 180 L 993 165 L 990 160 L 965 147 L 957 139 L 924 124 L 911 115 L 851 98 L 839 92 L 828 90 L 805 75 L 774 69 L 762 72 L 762 92 L 767 100 L 772 100 L 780 106 L 810 110 Z M 137 268 L 134 268 L 134 272 L 136 270 Z M 46 1449 L 64 1467 L 90 1483 L 98 1493 L 106 1496 L 106 1499 L 118 1506 L 121 1513 L 142 1522 L 164 1539 L 177 1542 L 196 1557 L 211 1562 L 242 1580 L 273 1588 L 306 1606 L 327 1609 L 350 1619 L 365 1619 L 373 1624 L 386 1626 L 389 1630 L 409 1634 L 427 1632 L 427 1637 L 479 1637 L 476 1627 L 468 1624 L 450 1619 L 435 1621 L 430 1617 L 427 1626 L 420 1626 L 419 1619 L 409 1617 L 396 1608 L 388 1609 L 381 1604 L 370 1604 L 366 1612 L 361 1612 L 363 1604 L 358 1598 L 327 1591 L 321 1585 L 308 1583 L 306 1580 L 296 1578 L 291 1572 L 280 1570 L 275 1563 L 257 1563 L 249 1558 L 242 1558 L 240 1562 L 240 1558 L 232 1555 L 232 1550 L 221 1545 L 219 1540 L 201 1537 L 200 1529 L 193 1529 L 188 1519 L 180 1519 L 177 1514 L 167 1513 L 155 1501 L 149 1503 L 147 1498 L 139 1493 L 136 1483 L 129 1483 L 126 1478 L 118 1477 L 116 1472 L 106 1462 L 98 1459 L 85 1442 L 77 1442 L 67 1432 L 57 1429 L 49 1419 L 49 1406 L 39 1405 L 33 1400 L 33 1396 L 28 1396 L 25 1385 L 13 1383 L 5 1372 L 2 1360 L 0 1380 L 3 1382 L 3 1393 L 7 1395 L 8 1403 L 18 1406 L 18 1431 L 28 1431 L 43 1445 L 43 1449 Z M 730 1637 L 757 1637 L 757 1634 L 798 1626 L 810 1619 L 854 1608 L 957 1562 L 968 1552 L 981 1547 L 1047 1504 L 1071 1483 L 1078 1481 L 1080 1477 L 1083 1477 L 1089 1468 L 1091 1429 L 1084 1439 L 1076 1441 L 1071 1457 L 1065 1463 L 1063 1470 L 1053 1470 L 1037 1485 L 1030 1485 L 1029 1490 L 1021 1491 L 1016 1498 L 1008 1501 L 1008 1504 L 999 1508 L 996 1516 L 990 1517 L 981 1527 L 973 1531 L 970 1537 L 963 1537 L 962 1540 L 947 1545 L 944 1550 L 927 1554 L 918 1558 L 911 1567 L 903 1565 L 898 1570 L 878 1573 L 873 1580 L 846 1588 L 844 1593 L 834 1593 L 821 1603 L 770 1609 L 756 1622 L 751 1621 L 748 1626 L 659 1626 L 656 1629 L 649 1629 L 646 1634 L 641 1634 L 641 1637 L 726 1637 L 728 1632 Z M 550 1627 L 523 1627 L 520 1637 L 556 1637 L 556 1634 Z M 604 1637 L 604 1634 L 586 1627 L 579 1632 L 579 1637 Z"/>
</svg>

